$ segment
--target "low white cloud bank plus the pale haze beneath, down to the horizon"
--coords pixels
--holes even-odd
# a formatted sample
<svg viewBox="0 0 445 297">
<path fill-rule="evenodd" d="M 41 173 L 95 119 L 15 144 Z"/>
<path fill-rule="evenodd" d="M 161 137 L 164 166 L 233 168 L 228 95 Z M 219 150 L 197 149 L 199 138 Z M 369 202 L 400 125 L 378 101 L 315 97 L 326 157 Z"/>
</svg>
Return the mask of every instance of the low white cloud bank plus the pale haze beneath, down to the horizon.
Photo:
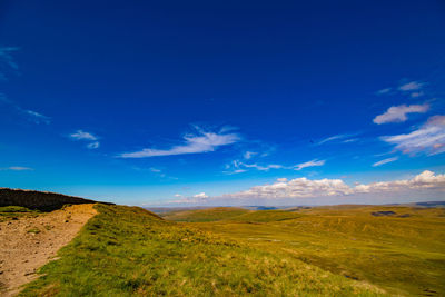
<svg viewBox="0 0 445 297">
<path fill-rule="evenodd" d="M 411 179 L 400 179 L 393 181 L 377 181 L 370 184 L 356 184 L 348 186 L 342 179 L 308 179 L 306 177 L 286 179 L 278 178 L 274 184 L 251 187 L 248 190 L 225 194 L 221 196 L 194 196 L 172 204 L 180 205 L 253 205 L 260 202 L 264 205 L 279 204 L 318 204 L 319 201 L 329 201 L 329 198 L 337 198 L 337 204 L 347 202 L 350 198 L 369 198 L 369 195 L 376 196 L 379 202 L 396 202 L 395 196 L 405 195 L 414 197 L 417 192 L 431 194 L 431 197 L 444 197 L 445 195 L 445 174 L 435 174 L 425 170 Z M 414 195 L 414 196 L 413 196 Z M 344 201 L 338 198 L 348 198 Z M 389 198 L 389 199 L 386 199 Z M 392 200 L 393 199 L 393 200 Z M 366 200 L 368 202 L 368 200 Z"/>
</svg>

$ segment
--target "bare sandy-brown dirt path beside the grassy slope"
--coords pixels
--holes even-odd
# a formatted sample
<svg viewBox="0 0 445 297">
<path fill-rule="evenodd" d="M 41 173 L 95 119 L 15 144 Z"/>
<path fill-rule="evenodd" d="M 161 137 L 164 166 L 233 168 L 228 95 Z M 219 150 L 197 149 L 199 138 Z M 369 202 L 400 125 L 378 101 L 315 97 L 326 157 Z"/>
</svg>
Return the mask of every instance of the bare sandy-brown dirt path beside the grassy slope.
<svg viewBox="0 0 445 297">
<path fill-rule="evenodd" d="M 36 279 L 36 270 L 97 214 L 92 207 L 73 205 L 36 218 L 0 222 L 0 296 L 12 296 Z"/>
</svg>

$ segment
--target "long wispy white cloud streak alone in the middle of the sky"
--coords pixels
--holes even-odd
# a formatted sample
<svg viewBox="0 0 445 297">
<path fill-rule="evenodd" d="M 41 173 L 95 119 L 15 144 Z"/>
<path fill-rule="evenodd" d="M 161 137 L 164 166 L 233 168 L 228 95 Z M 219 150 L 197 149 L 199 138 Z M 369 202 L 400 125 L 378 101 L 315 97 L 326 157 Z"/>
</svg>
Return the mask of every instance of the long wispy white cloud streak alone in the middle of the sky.
<svg viewBox="0 0 445 297">
<path fill-rule="evenodd" d="M 198 130 L 198 135 L 186 135 L 185 143 L 169 149 L 147 148 L 135 152 L 123 152 L 121 158 L 148 158 L 215 151 L 218 147 L 233 145 L 240 140 L 237 133 L 215 133 Z"/>
</svg>

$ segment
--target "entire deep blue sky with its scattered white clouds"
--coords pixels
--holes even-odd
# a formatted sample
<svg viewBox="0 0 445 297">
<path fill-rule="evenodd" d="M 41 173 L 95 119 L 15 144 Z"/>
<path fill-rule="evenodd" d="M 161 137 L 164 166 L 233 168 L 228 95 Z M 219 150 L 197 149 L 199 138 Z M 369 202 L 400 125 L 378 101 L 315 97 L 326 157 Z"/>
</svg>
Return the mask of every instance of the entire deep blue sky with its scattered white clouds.
<svg viewBox="0 0 445 297">
<path fill-rule="evenodd" d="M 0 187 L 445 200 L 443 1 L 1 1 Z"/>
</svg>

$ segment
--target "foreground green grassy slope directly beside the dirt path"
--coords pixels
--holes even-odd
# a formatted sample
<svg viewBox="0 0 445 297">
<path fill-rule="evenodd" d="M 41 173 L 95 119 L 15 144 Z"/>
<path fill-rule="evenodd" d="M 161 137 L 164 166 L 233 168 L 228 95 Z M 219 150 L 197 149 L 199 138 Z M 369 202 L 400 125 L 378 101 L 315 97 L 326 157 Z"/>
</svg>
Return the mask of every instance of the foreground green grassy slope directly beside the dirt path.
<svg viewBox="0 0 445 297">
<path fill-rule="evenodd" d="M 205 230 L 227 232 L 211 224 L 166 221 L 141 208 L 97 210 L 21 296 L 383 295 L 366 281 L 306 264 L 298 254 L 244 240 L 243 231 L 240 239 L 227 238 Z"/>
</svg>

